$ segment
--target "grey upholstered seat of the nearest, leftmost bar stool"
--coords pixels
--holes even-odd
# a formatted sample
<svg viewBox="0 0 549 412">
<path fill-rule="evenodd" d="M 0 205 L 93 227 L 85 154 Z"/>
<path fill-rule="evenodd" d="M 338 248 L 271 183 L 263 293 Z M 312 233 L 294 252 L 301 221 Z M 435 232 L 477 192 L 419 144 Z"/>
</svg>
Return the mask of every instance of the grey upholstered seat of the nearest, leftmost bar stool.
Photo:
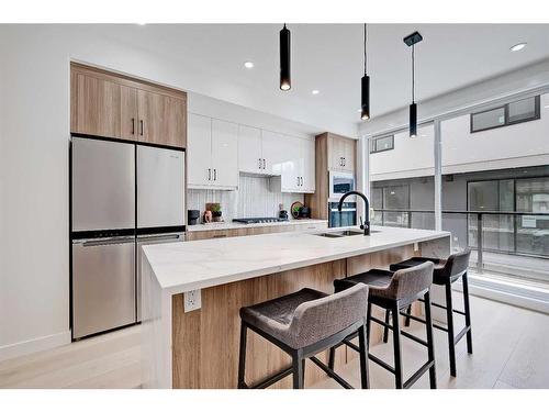
<svg viewBox="0 0 549 412">
<path fill-rule="evenodd" d="M 254 304 L 253 307 L 242 308 L 240 318 L 256 326 L 257 329 L 269 333 L 294 349 L 306 346 L 307 342 L 303 336 L 292 334 L 290 324 L 295 313 L 295 309 L 302 303 L 312 300 L 325 298 L 328 294 L 314 289 L 301 289 L 298 292 L 276 298 L 266 302 Z"/>
</svg>

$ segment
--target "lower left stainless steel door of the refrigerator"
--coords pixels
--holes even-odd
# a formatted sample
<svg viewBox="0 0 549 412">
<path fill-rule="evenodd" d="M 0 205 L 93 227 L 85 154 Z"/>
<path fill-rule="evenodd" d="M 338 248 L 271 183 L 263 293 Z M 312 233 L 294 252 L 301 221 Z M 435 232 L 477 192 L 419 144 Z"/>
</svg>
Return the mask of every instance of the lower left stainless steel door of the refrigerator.
<svg viewBox="0 0 549 412">
<path fill-rule="evenodd" d="M 135 323 L 135 238 L 72 243 L 72 337 Z"/>
</svg>

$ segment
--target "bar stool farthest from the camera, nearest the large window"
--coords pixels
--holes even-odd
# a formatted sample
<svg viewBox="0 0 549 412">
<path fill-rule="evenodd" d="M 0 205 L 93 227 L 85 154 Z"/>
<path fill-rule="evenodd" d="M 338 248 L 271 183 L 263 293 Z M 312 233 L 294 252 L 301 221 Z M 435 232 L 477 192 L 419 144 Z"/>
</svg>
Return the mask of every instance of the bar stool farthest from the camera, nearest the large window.
<svg viewBox="0 0 549 412">
<path fill-rule="evenodd" d="M 464 249 L 452 254 L 448 259 L 437 259 L 429 257 L 413 257 L 411 259 L 401 261 L 399 264 L 393 264 L 390 266 L 391 270 L 400 270 L 404 268 L 415 267 L 422 265 L 425 261 L 432 261 L 435 265 L 435 270 L 433 272 L 433 283 L 440 285 L 445 287 L 446 290 L 446 305 L 439 303 L 432 303 L 436 308 L 446 310 L 447 326 L 444 327 L 435 324 L 434 327 L 444 331 L 448 334 L 448 349 L 450 356 L 450 375 L 456 377 L 456 345 L 459 341 L 467 334 L 467 352 L 469 354 L 473 353 L 473 339 L 471 332 L 471 309 L 469 307 L 469 281 L 467 277 L 467 269 L 469 267 L 469 257 L 471 255 L 470 249 Z M 451 298 L 451 286 L 455 281 L 461 278 L 463 285 L 463 309 L 464 311 L 459 311 L 453 309 L 452 298 Z M 466 318 L 466 327 L 463 327 L 457 335 L 453 331 L 453 313 L 458 313 Z M 425 321 L 421 318 L 412 315 L 412 305 L 406 309 L 406 313 L 401 313 L 406 318 L 405 325 L 410 326 L 410 320 L 414 320 L 421 323 Z M 386 342 L 386 341 L 385 341 Z"/>
</svg>

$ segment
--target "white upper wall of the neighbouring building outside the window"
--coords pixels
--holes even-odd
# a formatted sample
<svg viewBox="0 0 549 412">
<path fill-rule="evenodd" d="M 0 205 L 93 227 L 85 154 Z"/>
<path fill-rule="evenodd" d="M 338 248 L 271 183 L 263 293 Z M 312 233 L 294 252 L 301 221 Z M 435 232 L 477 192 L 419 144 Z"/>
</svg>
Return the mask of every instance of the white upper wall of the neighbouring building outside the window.
<svg viewBox="0 0 549 412">
<path fill-rule="evenodd" d="M 442 174 L 549 164 L 549 94 L 540 98 L 541 119 L 470 133 L 469 114 L 441 123 Z M 434 127 L 394 136 L 394 149 L 370 155 L 372 180 L 434 175 Z"/>
</svg>

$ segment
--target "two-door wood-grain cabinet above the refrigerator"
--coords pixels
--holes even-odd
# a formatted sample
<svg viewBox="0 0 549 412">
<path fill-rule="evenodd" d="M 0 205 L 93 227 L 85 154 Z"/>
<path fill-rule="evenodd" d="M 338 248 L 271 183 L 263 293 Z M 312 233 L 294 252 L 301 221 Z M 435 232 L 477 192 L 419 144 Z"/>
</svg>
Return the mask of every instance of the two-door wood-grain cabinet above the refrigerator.
<svg viewBox="0 0 549 412">
<path fill-rule="evenodd" d="M 187 146 L 187 93 L 70 65 L 70 131 L 103 137 Z"/>
</svg>

